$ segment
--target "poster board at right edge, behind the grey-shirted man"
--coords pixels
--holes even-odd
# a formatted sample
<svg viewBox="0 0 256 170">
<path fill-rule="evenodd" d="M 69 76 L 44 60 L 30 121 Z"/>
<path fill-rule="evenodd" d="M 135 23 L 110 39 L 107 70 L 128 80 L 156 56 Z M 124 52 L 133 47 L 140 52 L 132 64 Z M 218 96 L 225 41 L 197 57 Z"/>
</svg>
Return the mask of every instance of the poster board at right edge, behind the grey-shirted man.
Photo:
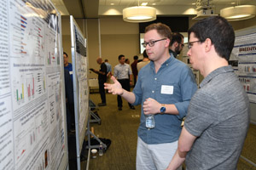
<svg viewBox="0 0 256 170">
<path fill-rule="evenodd" d="M 233 68 L 250 100 L 251 122 L 256 122 L 256 26 L 235 33 L 230 61 L 236 63 Z"/>
</svg>

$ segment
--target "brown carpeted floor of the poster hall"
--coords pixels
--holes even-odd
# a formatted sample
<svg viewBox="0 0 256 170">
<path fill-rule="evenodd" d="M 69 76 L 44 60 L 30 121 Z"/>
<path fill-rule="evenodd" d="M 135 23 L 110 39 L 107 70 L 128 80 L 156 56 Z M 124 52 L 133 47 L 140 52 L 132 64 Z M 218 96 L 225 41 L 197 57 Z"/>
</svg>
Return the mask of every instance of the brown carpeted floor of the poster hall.
<svg viewBox="0 0 256 170">
<path fill-rule="evenodd" d="M 90 94 L 90 99 L 98 104 L 100 94 Z M 99 107 L 102 124 L 90 123 L 96 136 L 111 139 L 112 144 L 103 156 L 90 158 L 90 170 L 135 170 L 137 127 L 140 119 L 140 105 L 131 110 L 123 100 L 123 111 L 118 111 L 116 96 L 107 94 L 107 106 Z M 251 124 L 241 156 L 256 163 L 256 126 Z M 86 161 L 81 161 L 81 169 L 86 169 Z M 238 170 L 256 170 L 256 167 L 240 158 Z"/>
</svg>

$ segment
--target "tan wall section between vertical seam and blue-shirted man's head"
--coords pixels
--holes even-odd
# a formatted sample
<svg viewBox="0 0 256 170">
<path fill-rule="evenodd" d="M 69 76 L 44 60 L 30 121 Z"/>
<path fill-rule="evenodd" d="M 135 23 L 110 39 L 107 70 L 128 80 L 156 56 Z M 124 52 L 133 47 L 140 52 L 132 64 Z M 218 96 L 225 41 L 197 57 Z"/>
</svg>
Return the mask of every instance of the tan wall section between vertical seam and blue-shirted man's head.
<svg viewBox="0 0 256 170">
<path fill-rule="evenodd" d="M 101 19 L 102 58 L 112 65 L 119 64 L 119 54 L 133 62 L 133 56 L 139 54 L 138 24 L 125 22 L 122 18 Z M 130 63 L 130 64 L 131 64 Z"/>
</svg>

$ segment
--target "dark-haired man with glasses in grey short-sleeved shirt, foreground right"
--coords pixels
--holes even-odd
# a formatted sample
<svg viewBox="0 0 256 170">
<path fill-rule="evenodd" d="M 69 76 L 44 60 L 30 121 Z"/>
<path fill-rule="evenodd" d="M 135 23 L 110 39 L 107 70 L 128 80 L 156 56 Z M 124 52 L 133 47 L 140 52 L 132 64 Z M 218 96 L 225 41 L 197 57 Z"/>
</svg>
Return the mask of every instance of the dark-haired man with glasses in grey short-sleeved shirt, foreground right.
<svg viewBox="0 0 256 170">
<path fill-rule="evenodd" d="M 228 64 L 234 41 L 232 26 L 220 16 L 189 29 L 190 63 L 205 79 L 190 101 L 168 170 L 185 159 L 189 170 L 237 168 L 249 125 L 249 101 Z"/>
</svg>

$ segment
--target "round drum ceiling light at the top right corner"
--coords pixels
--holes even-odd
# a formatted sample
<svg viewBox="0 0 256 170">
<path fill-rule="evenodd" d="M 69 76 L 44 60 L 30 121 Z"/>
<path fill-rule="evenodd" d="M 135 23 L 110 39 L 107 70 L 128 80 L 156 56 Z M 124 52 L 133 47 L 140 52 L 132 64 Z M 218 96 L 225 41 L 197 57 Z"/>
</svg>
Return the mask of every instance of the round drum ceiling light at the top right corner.
<svg viewBox="0 0 256 170">
<path fill-rule="evenodd" d="M 220 10 L 220 16 L 229 21 L 251 19 L 255 16 L 255 14 L 255 5 L 238 5 Z"/>
</svg>

